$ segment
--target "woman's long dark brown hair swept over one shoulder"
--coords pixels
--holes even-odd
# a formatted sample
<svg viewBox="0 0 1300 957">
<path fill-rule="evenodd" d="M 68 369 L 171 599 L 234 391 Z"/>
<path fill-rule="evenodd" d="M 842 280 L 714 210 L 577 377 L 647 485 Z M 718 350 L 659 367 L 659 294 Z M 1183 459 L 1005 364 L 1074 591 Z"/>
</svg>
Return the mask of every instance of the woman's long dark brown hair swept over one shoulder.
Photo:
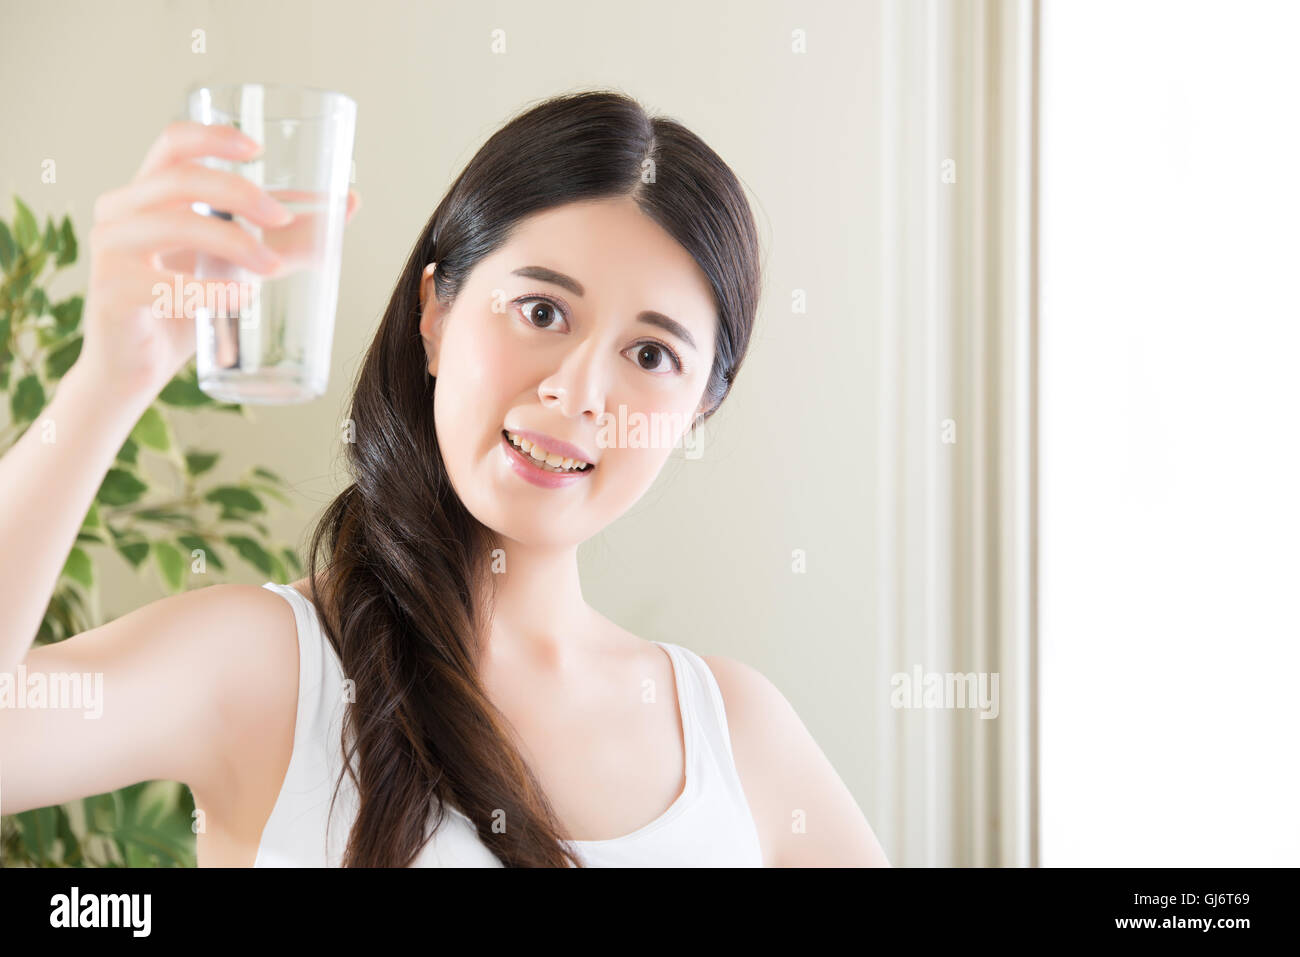
<svg viewBox="0 0 1300 957">
<path fill-rule="evenodd" d="M 740 369 L 760 293 L 758 233 L 736 176 L 684 126 L 615 91 L 555 96 L 511 118 L 456 177 L 365 355 L 346 445 L 352 482 L 308 547 L 312 598 L 355 683 L 343 767 L 360 802 L 343 866 L 411 865 L 447 806 L 507 867 L 581 866 L 480 683 L 495 534 L 452 490 L 438 447 L 420 281 L 437 263 L 434 294 L 450 304 L 523 217 L 618 196 L 634 198 L 708 277 L 718 345 L 702 417 Z"/>
</svg>

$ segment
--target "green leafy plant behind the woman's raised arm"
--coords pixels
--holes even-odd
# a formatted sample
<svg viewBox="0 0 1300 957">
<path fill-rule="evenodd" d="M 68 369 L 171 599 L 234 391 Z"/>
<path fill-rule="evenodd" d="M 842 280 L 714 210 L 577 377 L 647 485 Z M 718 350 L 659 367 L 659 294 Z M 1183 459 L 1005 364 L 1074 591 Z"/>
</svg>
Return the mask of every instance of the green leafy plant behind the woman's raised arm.
<svg viewBox="0 0 1300 957">
<path fill-rule="evenodd" d="M 0 394 L 8 424 L 4 454 L 29 428 L 81 352 L 81 295 L 55 302 L 55 274 L 77 261 L 72 220 L 44 230 L 14 196 L 13 226 L 0 217 Z M 48 272 L 48 276 L 47 276 Z M 273 544 L 268 499 L 292 508 L 276 473 L 251 467 L 235 481 L 216 481 L 216 451 L 179 447 L 170 416 L 177 411 L 250 416 L 198 386 L 194 361 L 166 384 L 146 410 L 104 476 L 49 599 L 36 645 L 64 641 L 94 628 L 99 609 L 96 567 L 117 555 L 138 573 L 152 568 L 164 593 L 185 590 L 191 575 L 214 584 L 238 557 L 277 583 L 302 573 L 294 549 Z M 146 459 L 168 472 L 164 481 Z M 166 488 L 170 486 L 170 488 Z M 0 493 L 3 494 L 3 493 Z M 228 549 L 222 557 L 221 546 Z M 4 547 L 13 547 L 5 542 Z M 53 807 L 0 818 L 3 866 L 194 866 L 194 797 L 177 781 L 142 781 Z"/>
</svg>

